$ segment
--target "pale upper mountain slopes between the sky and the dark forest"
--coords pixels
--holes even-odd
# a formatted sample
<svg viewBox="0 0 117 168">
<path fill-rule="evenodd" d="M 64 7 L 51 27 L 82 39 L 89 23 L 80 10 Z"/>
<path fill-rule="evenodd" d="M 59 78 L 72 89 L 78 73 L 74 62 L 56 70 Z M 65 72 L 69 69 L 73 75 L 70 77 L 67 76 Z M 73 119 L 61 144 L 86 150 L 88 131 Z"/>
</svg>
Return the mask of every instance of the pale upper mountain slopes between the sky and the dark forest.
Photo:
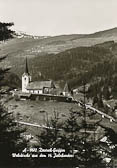
<svg viewBox="0 0 117 168">
<path fill-rule="evenodd" d="M 70 48 L 79 46 L 92 46 L 105 41 L 117 41 L 117 28 L 96 32 L 93 34 L 71 34 L 60 36 L 32 36 L 26 33 L 16 32 L 17 36 L 1 44 L 0 54 L 18 53 L 21 55 L 30 55 L 43 53 L 59 53 Z"/>
</svg>

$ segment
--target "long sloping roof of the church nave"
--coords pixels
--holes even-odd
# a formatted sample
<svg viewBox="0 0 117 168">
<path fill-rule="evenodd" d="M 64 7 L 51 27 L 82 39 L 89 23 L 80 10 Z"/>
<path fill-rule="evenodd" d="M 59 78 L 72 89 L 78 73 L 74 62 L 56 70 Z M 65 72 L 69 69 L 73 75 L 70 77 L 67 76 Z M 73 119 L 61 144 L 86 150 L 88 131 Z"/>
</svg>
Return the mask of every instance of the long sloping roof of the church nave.
<svg viewBox="0 0 117 168">
<path fill-rule="evenodd" d="M 29 83 L 29 85 L 27 86 L 28 90 L 39 90 L 39 89 L 43 89 L 43 88 L 55 88 L 55 85 L 53 83 L 53 81 L 35 81 L 35 82 L 31 82 Z"/>
</svg>

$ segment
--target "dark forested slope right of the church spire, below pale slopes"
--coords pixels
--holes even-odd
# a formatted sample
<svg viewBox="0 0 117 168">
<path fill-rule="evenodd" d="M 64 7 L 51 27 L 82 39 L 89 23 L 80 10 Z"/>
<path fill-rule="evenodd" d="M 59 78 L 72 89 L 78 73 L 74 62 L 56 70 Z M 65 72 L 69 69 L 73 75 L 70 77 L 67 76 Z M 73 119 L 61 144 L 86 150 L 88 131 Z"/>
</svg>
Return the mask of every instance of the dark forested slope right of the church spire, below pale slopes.
<svg viewBox="0 0 117 168">
<path fill-rule="evenodd" d="M 117 44 L 110 41 L 92 47 L 73 48 L 59 54 L 37 56 L 29 60 L 29 64 L 35 65 L 30 70 L 34 80 L 39 79 L 41 74 L 42 79 L 67 81 L 72 88 L 82 85 L 85 80 L 92 85 L 92 89 L 93 85 L 98 84 L 98 92 L 106 87 L 106 90 L 116 95 L 116 48 Z"/>
</svg>

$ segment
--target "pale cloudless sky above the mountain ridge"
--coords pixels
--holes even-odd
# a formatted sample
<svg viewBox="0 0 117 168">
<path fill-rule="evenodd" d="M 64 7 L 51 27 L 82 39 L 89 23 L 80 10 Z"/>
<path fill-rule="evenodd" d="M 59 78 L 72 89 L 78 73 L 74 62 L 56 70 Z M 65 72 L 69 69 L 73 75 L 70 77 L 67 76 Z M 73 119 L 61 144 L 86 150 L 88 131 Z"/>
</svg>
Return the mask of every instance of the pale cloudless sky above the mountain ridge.
<svg viewBox="0 0 117 168">
<path fill-rule="evenodd" d="M 117 27 L 117 0 L 0 0 L 0 21 L 32 35 L 89 34 Z"/>
</svg>

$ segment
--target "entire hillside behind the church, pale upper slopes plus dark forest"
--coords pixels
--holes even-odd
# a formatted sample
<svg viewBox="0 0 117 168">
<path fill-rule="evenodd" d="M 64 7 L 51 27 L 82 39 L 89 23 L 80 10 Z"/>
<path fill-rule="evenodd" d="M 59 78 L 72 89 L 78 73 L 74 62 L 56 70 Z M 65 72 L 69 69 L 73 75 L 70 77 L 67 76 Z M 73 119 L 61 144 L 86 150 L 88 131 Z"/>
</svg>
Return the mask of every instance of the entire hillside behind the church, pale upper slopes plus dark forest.
<svg viewBox="0 0 117 168">
<path fill-rule="evenodd" d="M 108 85 L 108 89 L 115 95 L 116 37 L 117 28 L 89 35 L 15 37 L 0 45 L 0 55 L 7 55 L 1 66 L 10 67 L 11 73 L 15 72 L 21 79 L 27 57 L 33 80 L 53 79 L 59 83 L 67 81 L 71 88 L 77 88 L 85 79 L 91 87 L 98 83 L 98 92 L 103 90 L 105 84 Z"/>
</svg>

